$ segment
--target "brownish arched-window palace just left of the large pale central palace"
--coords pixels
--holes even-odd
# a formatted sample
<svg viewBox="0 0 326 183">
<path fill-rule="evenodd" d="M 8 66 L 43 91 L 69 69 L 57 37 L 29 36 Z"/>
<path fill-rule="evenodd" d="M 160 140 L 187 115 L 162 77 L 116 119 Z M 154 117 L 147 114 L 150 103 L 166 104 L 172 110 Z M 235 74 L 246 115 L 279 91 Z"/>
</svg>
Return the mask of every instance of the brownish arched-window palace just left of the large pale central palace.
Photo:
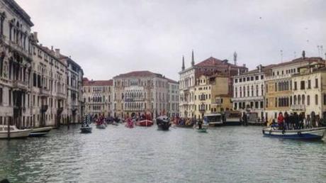
<svg viewBox="0 0 326 183">
<path fill-rule="evenodd" d="M 83 79 L 84 112 L 112 116 L 113 80 Z"/>
</svg>

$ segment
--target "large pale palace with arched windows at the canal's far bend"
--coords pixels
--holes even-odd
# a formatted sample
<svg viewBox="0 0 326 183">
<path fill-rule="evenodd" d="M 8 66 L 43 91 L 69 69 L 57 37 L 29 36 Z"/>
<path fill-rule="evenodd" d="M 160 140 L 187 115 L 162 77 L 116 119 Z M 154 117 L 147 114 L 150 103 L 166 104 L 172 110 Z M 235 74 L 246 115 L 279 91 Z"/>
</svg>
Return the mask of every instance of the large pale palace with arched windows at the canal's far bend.
<svg viewBox="0 0 326 183">
<path fill-rule="evenodd" d="M 113 116 L 121 118 L 151 113 L 153 117 L 169 113 L 169 83 L 162 74 L 135 71 L 113 77 Z M 171 97 L 169 97 L 171 96 Z M 175 94 L 173 95 L 175 99 Z M 176 104 L 177 101 L 174 101 Z"/>
</svg>

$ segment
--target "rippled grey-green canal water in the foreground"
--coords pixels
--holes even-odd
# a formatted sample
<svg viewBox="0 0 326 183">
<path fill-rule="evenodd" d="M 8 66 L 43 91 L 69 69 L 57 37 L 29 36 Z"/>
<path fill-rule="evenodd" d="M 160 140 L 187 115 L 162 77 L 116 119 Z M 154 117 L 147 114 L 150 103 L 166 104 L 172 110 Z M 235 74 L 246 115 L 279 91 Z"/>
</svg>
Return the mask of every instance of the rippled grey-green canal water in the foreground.
<svg viewBox="0 0 326 183">
<path fill-rule="evenodd" d="M 11 182 L 326 182 L 326 143 L 264 138 L 262 127 L 79 126 L 45 138 L 0 140 Z"/>
</svg>

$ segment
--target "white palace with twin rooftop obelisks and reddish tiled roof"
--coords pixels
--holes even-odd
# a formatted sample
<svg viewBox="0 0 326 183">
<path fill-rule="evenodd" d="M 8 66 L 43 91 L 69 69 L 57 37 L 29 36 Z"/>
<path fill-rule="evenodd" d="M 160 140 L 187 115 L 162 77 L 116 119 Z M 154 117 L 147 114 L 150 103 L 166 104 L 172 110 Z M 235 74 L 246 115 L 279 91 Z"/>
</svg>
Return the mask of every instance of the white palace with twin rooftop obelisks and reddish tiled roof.
<svg viewBox="0 0 326 183">
<path fill-rule="evenodd" d="M 235 55 L 235 63 L 236 63 L 236 55 Z M 191 54 L 191 67 L 187 68 L 184 65 L 184 57 L 182 57 L 182 67 L 180 75 L 180 116 L 183 118 L 193 118 L 195 115 L 195 103 L 194 103 L 194 92 L 195 87 L 198 85 L 196 82 L 198 77 L 203 74 L 220 74 L 225 75 L 227 77 L 231 77 L 238 72 L 242 74 L 243 72 L 247 72 L 247 67 L 233 65 L 228 62 L 228 60 L 218 60 L 214 57 L 209 57 L 202 62 L 199 62 L 195 65 L 193 52 Z M 227 84 L 230 88 L 228 91 L 230 95 L 232 95 L 232 79 L 229 80 L 229 84 Z"/>
</svg>

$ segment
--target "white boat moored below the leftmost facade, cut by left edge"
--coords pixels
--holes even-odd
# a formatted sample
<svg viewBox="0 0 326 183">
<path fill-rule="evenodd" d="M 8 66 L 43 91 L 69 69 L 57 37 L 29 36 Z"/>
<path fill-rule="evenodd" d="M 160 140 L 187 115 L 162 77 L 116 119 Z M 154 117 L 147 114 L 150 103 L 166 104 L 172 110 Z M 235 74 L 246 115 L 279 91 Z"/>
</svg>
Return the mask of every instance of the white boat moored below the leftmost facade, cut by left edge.
<svg viewBox="0 0 326 183">
<path fill-rule="evenodd" d="M 9 126 L 9 136 L 10 138 L 27 138 L 30 135 L 32 129 L 18 129 L 16 126 Z M 0 139 L 8 138 L 8 126 L 0 126 Z"/>
</svg>

